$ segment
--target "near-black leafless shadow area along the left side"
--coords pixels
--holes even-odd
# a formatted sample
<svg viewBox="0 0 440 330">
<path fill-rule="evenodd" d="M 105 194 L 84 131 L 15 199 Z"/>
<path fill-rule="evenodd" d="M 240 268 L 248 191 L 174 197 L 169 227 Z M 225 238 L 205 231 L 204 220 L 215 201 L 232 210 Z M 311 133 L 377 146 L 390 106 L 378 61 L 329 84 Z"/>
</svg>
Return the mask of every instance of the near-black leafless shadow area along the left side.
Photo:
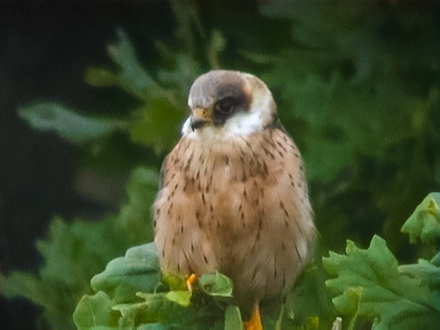
<svg viewBox="0 0 440 330">
<path fill-rule="evenodd" d="M 107 61 L 105 47 L 116 27 L 130 35 L 145 61 L 155 61 L 153 39 L 169 38 L 174 24 L 167 3 L 29 2 L 0 4 L 0 271 L 5 273 L 36 269 L 41 260 L 34 242 L 54 214 L 69 219 L 113 210 L 123 190 L 110 183 L 116 197 L 104 201 L 78 192 L 78 149 L 54 133 L 32 131 L 17 115 L 19 108 L 55 100 L 89 113 L 115 109 L 115 102 L 128 97 L 86 85 L 86 67 Z M 36 309 L 26 300 L 0 297 L 1 327 L 31 329 Z"/>
</svg>

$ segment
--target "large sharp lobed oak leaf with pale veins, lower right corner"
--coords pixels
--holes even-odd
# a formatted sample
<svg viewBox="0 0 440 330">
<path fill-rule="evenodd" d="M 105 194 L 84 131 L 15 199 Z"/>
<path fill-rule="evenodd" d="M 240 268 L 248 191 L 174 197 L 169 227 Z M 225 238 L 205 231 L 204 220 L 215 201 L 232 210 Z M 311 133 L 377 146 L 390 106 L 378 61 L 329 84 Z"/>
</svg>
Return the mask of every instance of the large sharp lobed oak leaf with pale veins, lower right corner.
<svg viewBox="0 0 440 330">
<path fill-rule="evenodd" d="M 436 297 L 419 281 L 400 274 L 385 241 L 374 236 L 368 250 L 347 241 L 347 256 L 330 252 L 322 259 L 337 278 L 326 281 L 342 314 L 375 320 L 374 329 L 433 329 L 440 326 Z"/>
</svg>

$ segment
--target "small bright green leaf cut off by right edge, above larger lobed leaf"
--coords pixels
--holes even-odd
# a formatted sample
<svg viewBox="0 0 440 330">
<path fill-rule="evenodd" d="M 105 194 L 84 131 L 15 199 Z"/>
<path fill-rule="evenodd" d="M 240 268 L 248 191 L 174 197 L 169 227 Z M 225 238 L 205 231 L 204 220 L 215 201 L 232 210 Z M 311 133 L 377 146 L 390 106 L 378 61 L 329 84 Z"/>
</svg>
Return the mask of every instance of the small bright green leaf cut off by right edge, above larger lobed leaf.
<svg viewBox="0 0 440 330">
<path fill-rule="evenodd" d="M 410 242 L 422 243 L 440 240 L 440 192 L 431 192 L 406 220 L 401 232 L 410 235 Z"/>
</svg>

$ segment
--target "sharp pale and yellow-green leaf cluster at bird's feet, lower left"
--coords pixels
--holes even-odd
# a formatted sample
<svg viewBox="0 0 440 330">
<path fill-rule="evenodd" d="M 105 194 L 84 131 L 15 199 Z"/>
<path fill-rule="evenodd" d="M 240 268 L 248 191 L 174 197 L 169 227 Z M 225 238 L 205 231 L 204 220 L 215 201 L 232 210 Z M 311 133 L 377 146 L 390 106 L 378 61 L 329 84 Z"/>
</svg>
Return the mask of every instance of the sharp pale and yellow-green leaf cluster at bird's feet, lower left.
<svg viewBox="0 0 440 330">
<path fill-rule="evenodd" d="M 164 329 L 214 327 L 212 318 L 224 311 L 232 282 L 217 273 L 201 276 L 198 283 L 190 294 L 185 278 L 161 276 L 153 243 L 130 248 L 92 278 L 97 293 L 80 300 L 74 322 L 78 329 L 150 329 L 159 324 Z"/>
</svg>

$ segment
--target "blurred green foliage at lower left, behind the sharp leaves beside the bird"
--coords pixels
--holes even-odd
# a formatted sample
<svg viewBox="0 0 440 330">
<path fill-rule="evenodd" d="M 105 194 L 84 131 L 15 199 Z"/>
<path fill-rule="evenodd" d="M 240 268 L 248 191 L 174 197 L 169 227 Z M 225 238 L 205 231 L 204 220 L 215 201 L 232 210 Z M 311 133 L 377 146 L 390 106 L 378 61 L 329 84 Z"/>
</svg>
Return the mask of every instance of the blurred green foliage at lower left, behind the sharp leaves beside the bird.
<svg viewBox="0 0 440 330">
<path fill-rule="evenodd" d="M 90 278 L 133 244 L 151 239 L 149 205 L 157 190 L 157 174 L 137 168 L 127 184 L 128 199 L 115 216 L 99 221 L 53 219 L 47 239 L 37 241 L 45 265 L 39 275 L 0 274 L 0 291 L 25 297 L 45 307 L 52 329 L 73 329 L 72 313 L 78 299 L 91 292 Z M 132 228 L 144 228 L 133 232 Z M 93 285 L 93 283 L 92 283 Z"/>
</svg>

